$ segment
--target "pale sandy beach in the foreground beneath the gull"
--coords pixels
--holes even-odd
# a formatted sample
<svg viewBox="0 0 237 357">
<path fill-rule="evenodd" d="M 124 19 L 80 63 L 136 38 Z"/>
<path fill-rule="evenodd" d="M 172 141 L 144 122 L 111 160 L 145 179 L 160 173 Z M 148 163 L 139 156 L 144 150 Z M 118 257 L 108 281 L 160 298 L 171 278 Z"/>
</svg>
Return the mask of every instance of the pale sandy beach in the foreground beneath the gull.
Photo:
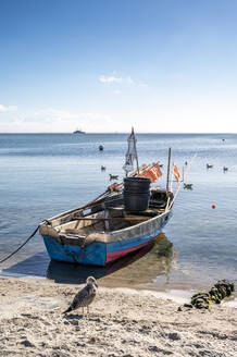
<svg viewBox="0 0 237 357">
<path fill-rule="evenodd" d="M 237 308 L 183 308 L 155 292 L 99 286 L 90 313 L 64 316 L 77 285 L 0 278 L 0 356 L 237 356 Z"/>
</svg>

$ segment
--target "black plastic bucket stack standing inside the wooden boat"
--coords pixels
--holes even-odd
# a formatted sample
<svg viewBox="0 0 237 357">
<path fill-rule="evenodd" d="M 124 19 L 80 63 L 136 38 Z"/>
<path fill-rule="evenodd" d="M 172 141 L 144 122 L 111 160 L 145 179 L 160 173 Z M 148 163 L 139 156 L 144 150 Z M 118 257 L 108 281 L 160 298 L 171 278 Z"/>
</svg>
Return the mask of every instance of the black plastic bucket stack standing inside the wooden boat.
<svg viewBox="0 0 237 357">
<path fill-rule="evenodd" d="M 146 211 L 150 201 L 150 178 L 124 178 L 124 207 L 127 211 Z"/>
</svg>

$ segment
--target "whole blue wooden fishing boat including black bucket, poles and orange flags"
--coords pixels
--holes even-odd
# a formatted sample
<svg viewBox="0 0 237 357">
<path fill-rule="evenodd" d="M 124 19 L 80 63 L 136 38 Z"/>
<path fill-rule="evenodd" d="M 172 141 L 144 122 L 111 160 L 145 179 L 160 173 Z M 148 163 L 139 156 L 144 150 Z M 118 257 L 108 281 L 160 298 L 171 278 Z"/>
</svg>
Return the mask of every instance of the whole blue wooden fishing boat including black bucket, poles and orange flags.
<svg viewBox="0 0 237 357">
<path fill-rule="evenodd" d="M 150 187 L 150 182 L 162 175 L 159 163 L 139 167 L 133 130 L 127 140 L 123 183 L 112 184 L 83 207 L 40 223 L 39 232 L 51 259 L 104 267 L 150 244 L 167 223 L 175 199 L 169 189 L 170 151 L 166 189 Z M 128 175 L 134 159 L 137 170 Z M 146 192 L 138 189 L 141 184 Z"/>
</svg>

